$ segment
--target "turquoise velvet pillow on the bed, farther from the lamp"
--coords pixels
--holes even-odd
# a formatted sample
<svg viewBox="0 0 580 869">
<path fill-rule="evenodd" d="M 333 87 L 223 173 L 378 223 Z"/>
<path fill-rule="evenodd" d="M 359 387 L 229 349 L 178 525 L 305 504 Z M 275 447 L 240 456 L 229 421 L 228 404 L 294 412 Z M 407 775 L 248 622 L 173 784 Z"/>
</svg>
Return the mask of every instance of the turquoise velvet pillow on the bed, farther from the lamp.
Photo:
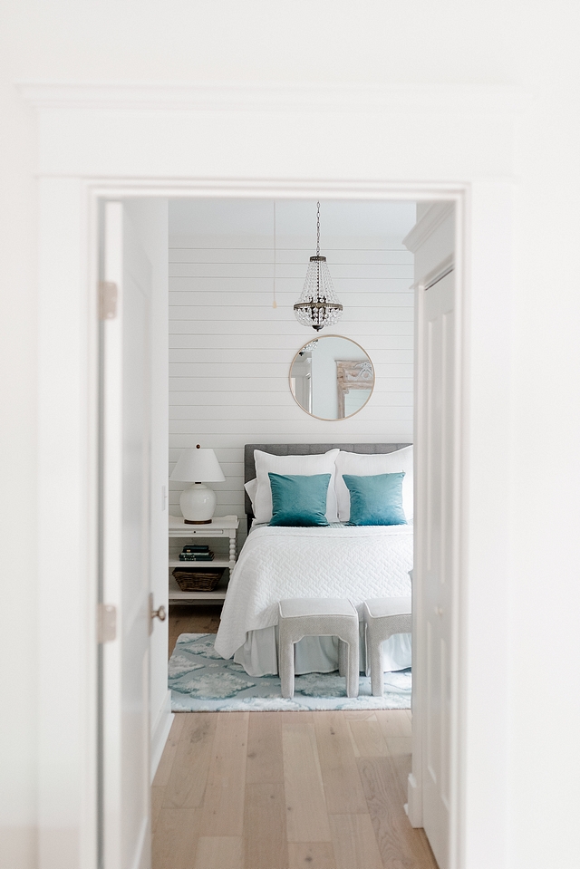
<svg viewBox="0 0 580 869">
<path fill-rule="evenodd" d="M 351 521 L 348 525 L 407 525 L 402 508 L 402 478 L 399 474 L 355 477 L 343 474 L 351 493 Z"/>
</svg>

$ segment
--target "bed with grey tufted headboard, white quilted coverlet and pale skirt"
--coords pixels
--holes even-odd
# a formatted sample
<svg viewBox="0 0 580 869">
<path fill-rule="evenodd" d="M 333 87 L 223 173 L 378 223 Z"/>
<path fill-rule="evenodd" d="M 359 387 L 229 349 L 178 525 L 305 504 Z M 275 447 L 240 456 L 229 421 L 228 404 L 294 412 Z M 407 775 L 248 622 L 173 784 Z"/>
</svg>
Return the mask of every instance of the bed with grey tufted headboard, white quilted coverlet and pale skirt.
<svg viewBox="0 0 580 869">
<path fill-rule="evenodd" d="M 382 461 L 380 456 L 406 447 L 410 445 L 247 444 L 245 481 L 256 478 L 255 450 L 272 456 L 307 455 L 322 459 L 323 454 L 340 449 L 346 454 L 375 456 L 375 460 Z M 410 486 L 412 490 L 412 481 Z M 366 598 L 411 594 L 412 521 L 393 526 L 349 527 L 339 521 L 328 527 L 273 527 L 254 521 L 248 495 L 246 512 L 251 530 L 229 581 L 216 651 L 224 658 L 233 657 L 249 675 L 277 673 L 279 600 L 348 597 L 362 618 L 362 602 Z M 383 652 L 385 671 L 410 667 L 411 635 L 391 637 Z M 296 673 L 331 672 L 337 666 L 335 638 L 304 637 L 296 643 Z M 361 670 L 366 670 L 363 643 Z"/>
</svg>

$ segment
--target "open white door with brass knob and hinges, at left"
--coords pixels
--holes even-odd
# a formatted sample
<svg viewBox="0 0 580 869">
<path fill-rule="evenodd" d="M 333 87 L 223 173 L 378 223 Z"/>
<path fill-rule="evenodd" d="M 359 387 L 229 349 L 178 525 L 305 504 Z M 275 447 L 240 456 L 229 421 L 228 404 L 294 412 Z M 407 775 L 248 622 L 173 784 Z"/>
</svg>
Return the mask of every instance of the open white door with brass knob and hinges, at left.
<svg viewBox="0 0 580 869">
<path fill-rule="evenodd" d="M 102 644 L 100 847 L 102 869 L 150 869 L 151 266 L 121 203 L 103 236 L 102 602 L 117 624 Z"/>
</svg>

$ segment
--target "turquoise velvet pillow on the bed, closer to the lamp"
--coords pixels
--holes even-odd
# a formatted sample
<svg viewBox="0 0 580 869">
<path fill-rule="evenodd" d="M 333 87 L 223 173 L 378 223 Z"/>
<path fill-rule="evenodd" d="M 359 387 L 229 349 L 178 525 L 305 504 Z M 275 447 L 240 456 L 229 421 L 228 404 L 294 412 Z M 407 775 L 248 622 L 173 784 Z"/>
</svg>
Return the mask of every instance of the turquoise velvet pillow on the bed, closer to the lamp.
<svg viewBox="0 0 580 869">
<path fill-rule="evenodd" d="M 272 474 L 272 518 L 269 525 L 327 526 L 326 493 L 330 474 L 302 477 L 294 474 Z"/>
</svg>

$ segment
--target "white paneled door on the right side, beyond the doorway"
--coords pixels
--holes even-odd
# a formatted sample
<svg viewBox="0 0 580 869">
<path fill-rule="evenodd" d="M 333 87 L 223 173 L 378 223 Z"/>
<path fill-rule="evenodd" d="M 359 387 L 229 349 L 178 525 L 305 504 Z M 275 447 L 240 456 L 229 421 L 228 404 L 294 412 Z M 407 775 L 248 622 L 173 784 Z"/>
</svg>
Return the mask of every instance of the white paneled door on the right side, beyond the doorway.
<svg viewBox="0 0 580 869">
<path fill-rule="evenodd" d="M 454 586 L 454 273 L 420 290 L 418 409 L 423 492 L 418 577 L 425 709 L 422 715 L 423 826 L 440 869 L 449 869 L 449 774 Z"/>
</svg>

